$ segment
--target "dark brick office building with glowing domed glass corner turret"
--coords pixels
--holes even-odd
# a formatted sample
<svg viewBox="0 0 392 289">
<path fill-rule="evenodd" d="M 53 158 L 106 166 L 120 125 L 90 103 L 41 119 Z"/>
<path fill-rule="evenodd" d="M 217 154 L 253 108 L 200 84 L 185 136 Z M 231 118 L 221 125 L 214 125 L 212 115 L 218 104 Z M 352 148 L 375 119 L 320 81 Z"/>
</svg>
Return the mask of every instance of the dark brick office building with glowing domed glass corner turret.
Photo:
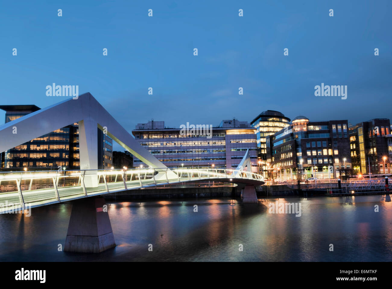
<svg viewBox="0 0 392 289">
<path fill-rule="evenodd" d="M 347 175 L 351 168 L 347 120 L 293 119 L 267 138 L 267 172 L 280 179 L 326 179 Z"/>
</svg>

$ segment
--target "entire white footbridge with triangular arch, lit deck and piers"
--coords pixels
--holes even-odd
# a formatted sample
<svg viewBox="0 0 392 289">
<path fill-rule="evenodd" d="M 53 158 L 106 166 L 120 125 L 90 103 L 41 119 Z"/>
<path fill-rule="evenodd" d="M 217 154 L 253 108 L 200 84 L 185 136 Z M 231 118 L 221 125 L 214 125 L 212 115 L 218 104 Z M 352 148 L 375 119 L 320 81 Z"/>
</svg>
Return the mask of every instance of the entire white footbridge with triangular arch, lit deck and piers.
<svg viewBox="0 0 392 289">
<path fill-rule="evenodd" d="M 244 184 L 244 203 L 257 203 L 254 186 L 263 177 L 251 171 L 249 150 L 237 168 L 168 168 L 143 148 L 89 93 L 37 110 L 0 126 L 0 152 L 78 123 L 82 170 L 0 172 L 0 214 L 26 207 L 73 201 L 64 251 L 98 253 L 116 246 L 109 214 L 100 195 L 165 184 L 220 181 Z M 98 170 L 98 129 L 148 168 Z M 246 169 L 245 169 L 246 168 Z"/>
</svg>

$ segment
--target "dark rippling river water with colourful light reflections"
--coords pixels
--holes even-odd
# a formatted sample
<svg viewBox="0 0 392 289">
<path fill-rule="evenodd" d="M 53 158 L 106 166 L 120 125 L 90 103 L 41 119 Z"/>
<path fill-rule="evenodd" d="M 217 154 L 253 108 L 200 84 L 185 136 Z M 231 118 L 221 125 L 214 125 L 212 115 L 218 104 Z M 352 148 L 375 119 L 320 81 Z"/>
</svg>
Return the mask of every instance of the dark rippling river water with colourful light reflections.
<svg viewBox="0 0 392 289">
<path fill-rule="evenodd" d="M 70 203 L 34 208 L 31 217 L 5 214 L 0 260 L 392 261 L 392 202 L 385 196 L 278 199 L 300 202 L 301 217 L 270 214 L 268 204 L 275 200 L 108 202 L 117 247 L 100 254 L 58 251 L 67 235 Z"/>
</svg>

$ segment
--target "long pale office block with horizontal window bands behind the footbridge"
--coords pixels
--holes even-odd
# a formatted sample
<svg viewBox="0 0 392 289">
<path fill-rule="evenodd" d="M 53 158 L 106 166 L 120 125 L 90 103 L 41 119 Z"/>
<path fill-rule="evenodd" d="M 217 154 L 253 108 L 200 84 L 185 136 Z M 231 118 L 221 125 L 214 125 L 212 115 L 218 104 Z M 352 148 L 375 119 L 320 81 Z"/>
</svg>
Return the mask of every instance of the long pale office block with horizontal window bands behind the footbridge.
<svg viewBox="0 0 392 289">
<path fill-rule="evenodd" d="M 227 119 L 211 127 L 210 135 L 197 130 L 183 134 L 180 128 L 166 128 L 164 121 L 139 123 L 132 134 L 169 168 L 235 168 L 249 149 L 252 170 L 257 172 L 255 131 L 247 121 Z M 145 166 L 134 157 L 134 166 L 140 165 Z"/>
</svg>

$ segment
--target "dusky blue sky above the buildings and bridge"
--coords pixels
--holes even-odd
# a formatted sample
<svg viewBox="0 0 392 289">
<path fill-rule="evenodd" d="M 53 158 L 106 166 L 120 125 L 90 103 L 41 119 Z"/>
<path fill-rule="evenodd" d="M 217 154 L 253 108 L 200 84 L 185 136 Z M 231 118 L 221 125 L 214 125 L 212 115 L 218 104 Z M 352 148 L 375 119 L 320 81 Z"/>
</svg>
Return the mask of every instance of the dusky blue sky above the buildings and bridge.
<svg viewBox="0 0 392 289">
<path fill-rule="evenodd" d="M 46 96 L 54 82 L 91 92 L 129 131 L 151 118 L 218 125 L 268 109 L 353 124 L 391 118 L 392 1 L 325 2 L 7 1 L 0 103 L 57 103 L 66 97 Z M 321 83 L 347 85 L 347 99 L 314 96 Z"/>
</svg>

